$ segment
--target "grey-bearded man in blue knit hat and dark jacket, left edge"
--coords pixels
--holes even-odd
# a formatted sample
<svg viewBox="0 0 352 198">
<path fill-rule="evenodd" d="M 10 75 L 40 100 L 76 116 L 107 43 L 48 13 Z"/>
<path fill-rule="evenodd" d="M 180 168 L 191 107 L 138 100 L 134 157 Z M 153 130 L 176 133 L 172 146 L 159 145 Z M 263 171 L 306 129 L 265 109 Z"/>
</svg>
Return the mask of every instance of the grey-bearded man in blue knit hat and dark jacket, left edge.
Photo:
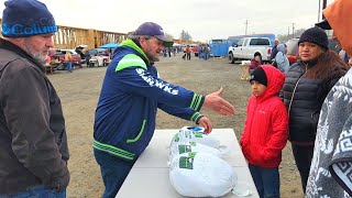
<svg viewBox="0 0 352 198">
<path fill-rule="evenodd" d="M 0 38 L 0 197 L 66 197 L 65 119 L 45 76 L 57 31 L 46 6 L 8 0 Z"/>
</svg>

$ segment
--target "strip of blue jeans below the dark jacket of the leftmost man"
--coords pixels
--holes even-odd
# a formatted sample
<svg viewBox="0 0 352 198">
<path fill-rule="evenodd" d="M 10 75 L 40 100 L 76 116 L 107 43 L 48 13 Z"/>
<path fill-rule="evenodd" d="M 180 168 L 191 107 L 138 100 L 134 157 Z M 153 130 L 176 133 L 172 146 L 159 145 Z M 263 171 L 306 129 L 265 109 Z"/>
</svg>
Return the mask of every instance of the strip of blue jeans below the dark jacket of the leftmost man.
<svg viewBox="0 0 352 198">
<path fill-rule="evenodd" d="M 56 191 L 48 187 L 35 186 L 24 191 L 12 195 L 0 195 L 0 198 L 66 198 L 66 189 Z"/>
</svg>

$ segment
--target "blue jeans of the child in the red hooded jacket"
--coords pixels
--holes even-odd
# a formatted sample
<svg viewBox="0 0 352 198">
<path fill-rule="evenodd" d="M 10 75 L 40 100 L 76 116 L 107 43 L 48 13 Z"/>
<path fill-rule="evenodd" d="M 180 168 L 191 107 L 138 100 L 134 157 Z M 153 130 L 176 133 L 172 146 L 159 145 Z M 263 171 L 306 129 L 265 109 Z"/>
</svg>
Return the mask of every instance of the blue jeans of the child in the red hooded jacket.
<svg viewBox="0 0 352 198">
<path fill-rule="evenodd" d="M 279 198 L 278 167 L 264 168 L 249 164 L 251 175 L 261 198 Z"/>
</svg>

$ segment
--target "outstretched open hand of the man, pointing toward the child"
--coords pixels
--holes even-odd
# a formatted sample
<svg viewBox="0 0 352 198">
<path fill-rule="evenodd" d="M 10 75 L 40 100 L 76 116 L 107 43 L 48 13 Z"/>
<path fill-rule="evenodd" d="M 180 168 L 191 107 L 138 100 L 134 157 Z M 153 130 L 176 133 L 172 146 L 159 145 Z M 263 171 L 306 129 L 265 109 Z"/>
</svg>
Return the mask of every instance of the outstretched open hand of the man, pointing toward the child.
<svg viewBox="0 0 352 198">
<path fill-rule="evenodd" d="M 222 116 L 233 116 L 234 108 L 231 103 L 220 97 L 222 92 L 223 88 L 221 87 L 219 90 L 207 95 L 202 106 Z"/>
</svg>

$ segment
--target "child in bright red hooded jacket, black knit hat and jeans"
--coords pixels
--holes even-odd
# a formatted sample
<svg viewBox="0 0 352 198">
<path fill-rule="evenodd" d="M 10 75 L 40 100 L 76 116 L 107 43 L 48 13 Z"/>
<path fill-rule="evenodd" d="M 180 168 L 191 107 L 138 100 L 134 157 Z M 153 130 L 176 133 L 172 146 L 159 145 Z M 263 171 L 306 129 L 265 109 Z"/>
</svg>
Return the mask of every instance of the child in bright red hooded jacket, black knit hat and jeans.
<svg viewBox="0 0 352 198">
<path fill-rule="evenodd" d="M 260 197 L 279 197 L 278 165 L 288 138 L 288 117 L 278 98 L 285 76 L 271 65 L 251 74 L 253 95 L 249 99 L 240 141 Z"/>
</svg>

